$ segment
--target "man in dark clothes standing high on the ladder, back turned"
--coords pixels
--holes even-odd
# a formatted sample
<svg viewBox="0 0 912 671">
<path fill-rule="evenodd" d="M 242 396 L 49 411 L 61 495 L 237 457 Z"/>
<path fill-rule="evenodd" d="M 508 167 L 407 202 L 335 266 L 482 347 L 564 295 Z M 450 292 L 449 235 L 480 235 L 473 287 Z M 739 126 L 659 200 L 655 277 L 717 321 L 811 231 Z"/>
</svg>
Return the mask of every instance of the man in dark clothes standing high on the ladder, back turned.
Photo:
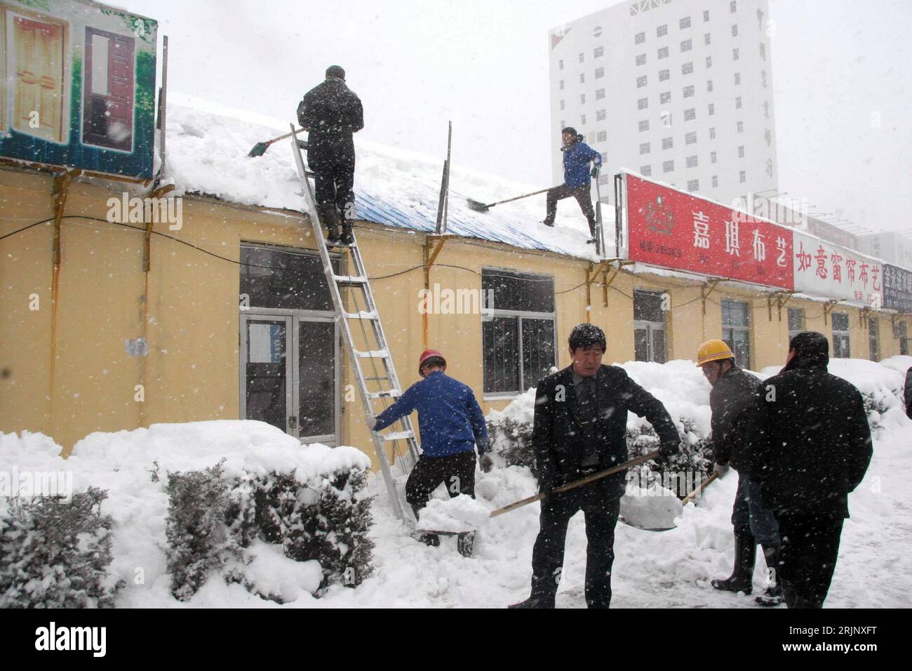
<svg viewBox="0 0 912 671">
<path fill-rule="evenodd" d="M 307 91 L 297 106 L 297 121 L 307 131 L 307 163 L 314 171 L 316 209 L 326 225 L 327 242 L 351 245 L 355 221 L 355 143 L 364 128 L 361 100 L 345 83 L 345 70 L 326 68 L 326 81 Z M 342 236 L 338 231 L 342 215 Z"/>
</svg>

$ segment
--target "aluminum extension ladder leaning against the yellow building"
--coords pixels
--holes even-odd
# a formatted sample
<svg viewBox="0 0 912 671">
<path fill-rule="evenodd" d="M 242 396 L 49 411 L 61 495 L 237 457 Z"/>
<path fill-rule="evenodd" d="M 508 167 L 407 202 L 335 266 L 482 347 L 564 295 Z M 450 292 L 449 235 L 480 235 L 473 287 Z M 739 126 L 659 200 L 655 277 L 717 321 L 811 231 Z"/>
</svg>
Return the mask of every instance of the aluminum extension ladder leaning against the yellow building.
<svg viewBox="0 0 912 671">
<path fill-rule="evenodd" d="M 374 302 L 374 294 L 368 281 L 368 272 L 358 249 L 358 240 L 351 245 L 334 246 L 342 251 L 343 255 L 347 252 L 347 258 L 351 263 L 347 267 L 354 267 L 354 273 L 351 275 L 337 275 L 326 246 L 314 192 L 306 177 L 304 158 L 294 125 L 291 131 L 292 152 L 295 154 L 295 165 L 303 186 L 306 212 L 314 227 L 316 246 L 323 260 L 329 293 L 336 307 L 336 320 L 342 326 L 348 359 L 358 379 L 358 393 L 368 417 L 368 426 L 372 426 L 374 418 L 386 409 L 388 399 L 399 397 L 402 388 L 399 386 L 399 378 L 389 353 L 389 343 L 380 323 L 377 304 Z M 342 288 L 350 290 L 343 295 Z M 348 299 L 348 302 L 345 299 Z M 354 309 L 348 309 L 348 305 Z M 359 330 L 352 329 L 352 322 L 357 322 Z M 368 328 L 365 328 L 366 324 Z M 418 441 L 415 439 L 415 431 L 408 415 L 401 418 L 397 424 L 398 426 L 392 425 L 393 430 L 386 434 L 371 430 L 370 435 L 374 440 L 374 451 L 396 516 L 410 523 L 415 518 L 411 508 L 405 504 L 405 480 L 418 461 Z M 392 463 L 387 452 L 388 446 L 392 448 Z"/>
</svg>

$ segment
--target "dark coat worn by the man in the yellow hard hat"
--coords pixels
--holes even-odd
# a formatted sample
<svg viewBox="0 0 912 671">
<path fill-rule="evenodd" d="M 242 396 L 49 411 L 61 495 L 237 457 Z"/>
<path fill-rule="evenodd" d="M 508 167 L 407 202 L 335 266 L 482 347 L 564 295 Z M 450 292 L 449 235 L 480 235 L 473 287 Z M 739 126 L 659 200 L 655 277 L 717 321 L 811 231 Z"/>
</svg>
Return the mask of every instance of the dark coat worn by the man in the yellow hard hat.
<svg viewBox="0 0 912 671">
<path fill-rule="evenodd" d="M 748 424 L 758 384 L 750 372 L 732 365 L 710 392 L 713 455 L 717 464 L 728 464 L 739 473 L 750 472 Z"/>
</svg>

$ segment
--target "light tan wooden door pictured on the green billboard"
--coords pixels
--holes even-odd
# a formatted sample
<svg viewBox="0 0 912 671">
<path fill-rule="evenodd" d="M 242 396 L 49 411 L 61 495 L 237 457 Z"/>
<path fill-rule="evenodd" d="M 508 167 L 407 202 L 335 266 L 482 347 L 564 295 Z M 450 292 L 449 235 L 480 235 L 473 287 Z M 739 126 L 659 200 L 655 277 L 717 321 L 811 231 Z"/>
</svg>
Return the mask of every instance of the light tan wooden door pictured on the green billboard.
<svg viewBox="0 0 912 671">
<path fill-rule="evenodd" d="M 67 24 L 3 6 L 3 129 L 64 142 Z M 10 95 L 7 100 L 6 96 Z M 9 115 L 7 117 L 7 115 Z"/>
</svg>

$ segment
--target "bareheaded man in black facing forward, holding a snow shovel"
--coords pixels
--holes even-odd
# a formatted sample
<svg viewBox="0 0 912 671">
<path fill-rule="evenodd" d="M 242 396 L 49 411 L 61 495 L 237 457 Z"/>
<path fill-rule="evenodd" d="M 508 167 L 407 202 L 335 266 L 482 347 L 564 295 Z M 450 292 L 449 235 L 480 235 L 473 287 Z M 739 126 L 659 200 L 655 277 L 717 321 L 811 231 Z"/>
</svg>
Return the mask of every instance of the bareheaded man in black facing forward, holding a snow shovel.
<svg viewBox="0 0 912 671">
<path fill-rule="evenodd" d="M 605 333 L 579 324 L 570 333 L 571 365 L 540 380 L 535 393 L 532 442 L 543 492 L 627 462 L 627 412 L 646 416 L 658 433 L 660 451 L 679 450 L 680 436 L 665 406 L 619 366 L 602 364 Z M 532 595 L 511 608 L 554 608 L 564 564 L 567 524 L 586 516 L 586 604 L 611 603 L 615 525 L 626 471 L 542 501 L 541 529 L 532 551 Z"/>
</svg>

